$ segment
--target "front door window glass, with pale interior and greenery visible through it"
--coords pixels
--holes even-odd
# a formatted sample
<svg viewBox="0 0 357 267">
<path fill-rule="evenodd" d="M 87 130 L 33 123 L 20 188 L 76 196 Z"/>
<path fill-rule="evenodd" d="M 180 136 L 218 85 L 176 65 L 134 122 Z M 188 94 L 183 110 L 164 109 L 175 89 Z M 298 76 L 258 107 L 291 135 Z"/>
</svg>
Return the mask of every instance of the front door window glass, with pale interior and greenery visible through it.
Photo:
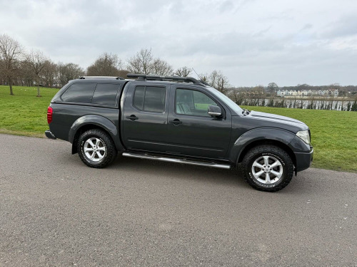
<svg viewBox="0 0 357 267">
<path fill-rule="evenodd" d="M 176 90 L 177 114 L 211 117 L 208 115 L 210 105 L 217 104 L 204 93 L 186 89 Z"/>
</svg>

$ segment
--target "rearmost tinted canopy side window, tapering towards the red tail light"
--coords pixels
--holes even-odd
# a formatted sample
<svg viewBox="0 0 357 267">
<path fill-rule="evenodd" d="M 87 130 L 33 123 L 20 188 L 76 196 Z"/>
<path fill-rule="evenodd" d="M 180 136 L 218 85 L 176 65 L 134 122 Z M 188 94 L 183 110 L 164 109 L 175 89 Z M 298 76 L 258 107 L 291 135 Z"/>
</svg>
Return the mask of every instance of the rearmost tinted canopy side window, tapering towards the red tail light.
<svg viewBox="0 0 357 267">
<path fill-rule="evenodd" d="M 64 102 L 91 103 L 96 83 L 74 83 L 61 95 Z"/>
</svg>

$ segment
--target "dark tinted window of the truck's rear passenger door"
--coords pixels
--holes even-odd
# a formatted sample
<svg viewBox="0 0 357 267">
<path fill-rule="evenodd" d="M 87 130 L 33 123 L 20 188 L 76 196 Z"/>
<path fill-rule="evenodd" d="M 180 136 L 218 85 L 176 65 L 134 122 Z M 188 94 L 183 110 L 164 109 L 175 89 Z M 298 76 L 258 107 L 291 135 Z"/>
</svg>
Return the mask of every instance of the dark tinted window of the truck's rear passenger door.
<svg viewBox="0 0 357 267">
<path fill-rule="evenodd" d="M 134 93 L 134 106 L 149 112 L 164 112 L 166 88 L 138 86 Z"/>
</svg>

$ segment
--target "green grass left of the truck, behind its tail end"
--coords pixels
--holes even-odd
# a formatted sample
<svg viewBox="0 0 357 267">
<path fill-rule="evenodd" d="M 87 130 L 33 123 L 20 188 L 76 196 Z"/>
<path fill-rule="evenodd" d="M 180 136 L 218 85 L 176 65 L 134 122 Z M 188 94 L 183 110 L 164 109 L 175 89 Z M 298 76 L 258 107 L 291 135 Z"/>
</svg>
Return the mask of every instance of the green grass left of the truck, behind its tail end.
<svg viewBox="0 0 357 267">
<path fill-rule="evenodd" d="M 47 107 L 58 92 L 57 89 L 14 86 L 10 95 L 9 86 L 0 85 L 0 133 L 44 137 L 47 124 Z"/>
</svg>

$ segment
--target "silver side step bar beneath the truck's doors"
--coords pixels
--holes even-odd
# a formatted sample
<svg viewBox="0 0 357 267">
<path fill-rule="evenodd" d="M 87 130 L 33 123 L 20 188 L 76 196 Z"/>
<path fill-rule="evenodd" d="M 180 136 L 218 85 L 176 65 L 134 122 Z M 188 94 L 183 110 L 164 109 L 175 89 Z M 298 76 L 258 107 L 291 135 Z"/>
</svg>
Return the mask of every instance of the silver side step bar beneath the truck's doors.
<svg viewBox="0 0 357 267">
<path fill-rule="evenodd" d="M 173 157 L 161 157 L 161 156 L 154 156 L 154 155 L 147 155 L 147 154 L 136 154 L 136 153 L 131 153 L 131 152 L 124 152 L 122 155 L 124 157 L 138 157 L 139 159 L 161 160 L 162 162 L 178 162 L 178 163 L 198 165 L 198 166 L 215 167 L 215 168 L 221 168 L 221 169 L 231 169 L 231 165 L 228 165 L 228 164 L 218 164 L 218 163 L 214 163 L 214 162 L 199 162 L 199 161 L 191 160 L 191 159 L 176 159 Z"/>
</svg>

